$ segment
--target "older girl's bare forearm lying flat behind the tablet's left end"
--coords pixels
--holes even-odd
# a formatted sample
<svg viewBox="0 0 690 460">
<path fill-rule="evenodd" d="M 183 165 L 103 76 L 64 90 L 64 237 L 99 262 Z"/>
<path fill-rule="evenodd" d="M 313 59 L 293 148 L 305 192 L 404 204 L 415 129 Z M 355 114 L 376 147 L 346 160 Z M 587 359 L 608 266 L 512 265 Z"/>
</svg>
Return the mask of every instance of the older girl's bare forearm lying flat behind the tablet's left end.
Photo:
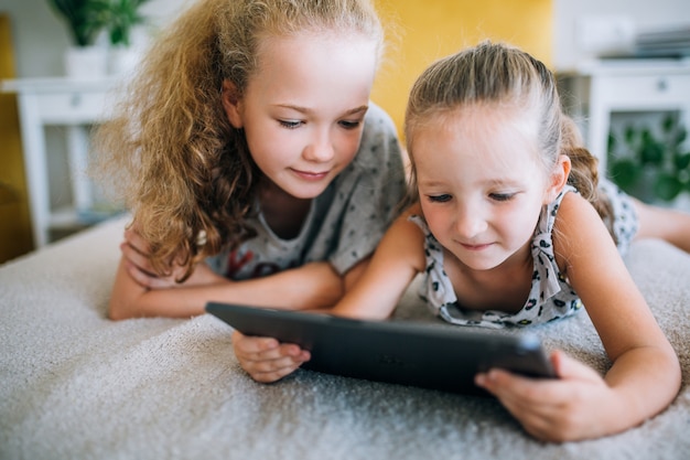
<svg viewBox="0 0 690 460">
<path fill-rule="evenodd" d="M 334 304 L 343 291 L 342 278 L 327 263 L 308 264 L 246 281 L 224 280 L 166 289 L 147 289 L 137 285 L 120 264 L 108 315 L 114 320 L 188 318 L 202 314 L 211 300 L 291 310 L 319 309 Z"/>
</svg>

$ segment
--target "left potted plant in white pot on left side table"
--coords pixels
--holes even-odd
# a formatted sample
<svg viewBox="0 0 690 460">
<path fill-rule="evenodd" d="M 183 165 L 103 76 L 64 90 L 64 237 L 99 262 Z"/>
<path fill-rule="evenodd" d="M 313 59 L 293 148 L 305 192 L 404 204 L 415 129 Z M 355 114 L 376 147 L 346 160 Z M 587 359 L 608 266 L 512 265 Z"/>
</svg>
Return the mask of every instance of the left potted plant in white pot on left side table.
<svg viewBox="0 0 690 460">
<path fill-rule="evenodd" d="M 110 0 L 48 0 L 67 23 L 73 46 L 65 54 L 65 71 L 72 77 L 100 77 L 107 72 L 107 50 L 96 41 L 108 22 Z"/>
</svg>

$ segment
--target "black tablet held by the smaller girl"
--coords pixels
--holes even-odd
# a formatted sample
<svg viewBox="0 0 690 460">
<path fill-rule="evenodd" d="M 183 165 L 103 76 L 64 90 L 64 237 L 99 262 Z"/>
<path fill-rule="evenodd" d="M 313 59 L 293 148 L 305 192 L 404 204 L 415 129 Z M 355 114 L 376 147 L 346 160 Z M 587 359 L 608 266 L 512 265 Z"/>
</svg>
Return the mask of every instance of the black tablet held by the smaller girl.
<svg viewBox="0 0 690 460">
<path fill-rule="evenodd" d="M 410 321 L 366 321 L 208 302 L 206 311 L 245 335 L 276 338 L 309 350 L 302 368 L 445 392 L 487 395 L 478 372 L 500 367 L 554 377 L 536 335 Z"/>
</svg>

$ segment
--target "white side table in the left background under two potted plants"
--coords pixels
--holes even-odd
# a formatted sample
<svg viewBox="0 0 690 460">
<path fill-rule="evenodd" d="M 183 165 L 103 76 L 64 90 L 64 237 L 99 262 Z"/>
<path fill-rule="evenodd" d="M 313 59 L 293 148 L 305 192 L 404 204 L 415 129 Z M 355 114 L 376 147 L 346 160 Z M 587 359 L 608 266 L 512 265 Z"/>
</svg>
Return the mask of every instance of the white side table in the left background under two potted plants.
<svg viewBox="0 0 690 460">
<path fill-rule="evenodd" d="M 79 212 L 93 204 L 87 176 L 88 126 L 106 119 L 115 79 L 28 78 L 2 82 L 2 90 L 17 93 L 19 101 L 29 204 L 36 247 L 48 243 L 53 227 L 79 222 Z M 45 127 L 67 131 L 68 165 L 74 203 L 52 210 L 48 188 Z"/>
</svg>

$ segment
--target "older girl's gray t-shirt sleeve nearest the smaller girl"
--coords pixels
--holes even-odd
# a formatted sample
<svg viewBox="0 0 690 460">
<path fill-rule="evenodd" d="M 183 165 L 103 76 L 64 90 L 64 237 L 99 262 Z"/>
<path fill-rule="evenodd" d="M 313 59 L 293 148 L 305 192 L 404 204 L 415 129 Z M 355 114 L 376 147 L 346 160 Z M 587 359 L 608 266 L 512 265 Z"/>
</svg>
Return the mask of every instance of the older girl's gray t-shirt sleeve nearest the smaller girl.
<svg viewBox="0 0 690 460">
<path fill-rule="evenodd" d="M 359 151 L 339 179 L 337 193 L 346 200 L 328 260 L 344 275 L 374 252 L 406 193 L 397 130 L 380 107 L 370 105 Z"/>
</svg>

